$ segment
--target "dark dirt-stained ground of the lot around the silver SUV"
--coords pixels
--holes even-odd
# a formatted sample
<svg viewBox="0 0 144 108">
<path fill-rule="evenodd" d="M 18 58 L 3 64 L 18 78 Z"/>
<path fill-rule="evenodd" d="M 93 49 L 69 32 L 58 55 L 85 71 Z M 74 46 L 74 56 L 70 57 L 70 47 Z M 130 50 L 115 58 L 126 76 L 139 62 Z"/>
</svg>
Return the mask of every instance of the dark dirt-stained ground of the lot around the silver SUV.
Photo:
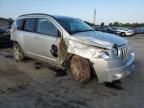
<svg viewBox="0 0 144 108">
<path fill-rule="evenodd" d="M 133 73 L 119 84 L 75 82 L 60 69 L 0 49 L 0 108 L 144 108 L 144 35 L 128 37 L 136 54 Z"/>
</svg>

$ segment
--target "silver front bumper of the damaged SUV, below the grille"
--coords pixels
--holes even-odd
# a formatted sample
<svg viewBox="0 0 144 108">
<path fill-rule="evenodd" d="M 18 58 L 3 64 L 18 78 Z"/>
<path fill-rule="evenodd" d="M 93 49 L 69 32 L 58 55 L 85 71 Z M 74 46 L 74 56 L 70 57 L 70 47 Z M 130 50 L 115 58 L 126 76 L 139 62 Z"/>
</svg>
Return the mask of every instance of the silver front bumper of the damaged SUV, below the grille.
<svg viewBox="0 0 144 108">
<path fill-rule="evenodd" d="M 100 83 L 120 80 L 130 74 L 134 68 L 135 54 L 130 53 L 127 60 L 91 60 Z"/>
</svg>

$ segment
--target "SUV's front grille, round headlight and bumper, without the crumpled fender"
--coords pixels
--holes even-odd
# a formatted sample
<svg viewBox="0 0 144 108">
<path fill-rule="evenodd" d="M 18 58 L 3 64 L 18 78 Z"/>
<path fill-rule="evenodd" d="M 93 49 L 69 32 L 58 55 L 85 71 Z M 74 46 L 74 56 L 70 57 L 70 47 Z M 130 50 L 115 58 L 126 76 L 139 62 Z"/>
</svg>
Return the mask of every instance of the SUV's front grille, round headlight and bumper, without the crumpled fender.
<svg viewBox="0 0 144 108">
<path fill-rule="evenodd" d="M 116 52 L 111 49 L 109 55 L 90 60 L 100 83 L 120 80 L 134 68 L 135 54 L 130 51 L 128 45 L 116 48 L 117 54 L 113 54 Z"/>
</svg>

